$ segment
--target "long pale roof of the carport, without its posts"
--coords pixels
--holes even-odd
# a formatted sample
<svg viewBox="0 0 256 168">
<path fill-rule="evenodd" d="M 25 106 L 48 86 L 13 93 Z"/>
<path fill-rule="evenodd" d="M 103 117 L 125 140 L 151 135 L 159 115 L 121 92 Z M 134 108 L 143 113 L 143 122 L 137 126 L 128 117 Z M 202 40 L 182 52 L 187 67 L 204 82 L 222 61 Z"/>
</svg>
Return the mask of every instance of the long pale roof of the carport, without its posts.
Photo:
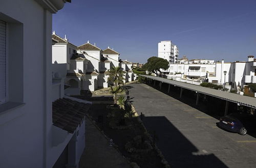
<svg viewBox="0 0 256 168">
<path fill-rule="evenodd" d="M 198 92 L 198 93 L 202 93 L 202 94 L 205 94 L 205 95 L 217 97 L 217 98 L 227 100 L 227 101 L 230 101 L 230 102 L 239 103 L 241 105 L 256 108 L 256 98 L 254 98 L 254 97 L 242 96 L 242 95 L 233 94 L 233 93 L 230 93 L 230 92 L 224 92 L 224 91 L 220 91 L 220 90 L 205 88 L 205 87 L 201 87 L 201 86 L 197 86 L 197 85 L 192 85 L 192 84 L 189 84 L 189 83 L 184 83 L 184 82 L 181 82 L 181 81 L 165 79 L 165 78 L 162 78 L 162 77 L 149 76 L 149 75 L 141 75 L 141 76 L 151 78 L 151 79 L 154 79 L 154 80 L 158 80 L 158 81 L 168 83 L 170 85 L 174 85 L 174 86 L 181 87 L 181 88 L 184 88 L 184 89 L 188 89 L 188 90 L 191 90 L 191 91 L 195 91 L 195 92 Z"/>
</svg>

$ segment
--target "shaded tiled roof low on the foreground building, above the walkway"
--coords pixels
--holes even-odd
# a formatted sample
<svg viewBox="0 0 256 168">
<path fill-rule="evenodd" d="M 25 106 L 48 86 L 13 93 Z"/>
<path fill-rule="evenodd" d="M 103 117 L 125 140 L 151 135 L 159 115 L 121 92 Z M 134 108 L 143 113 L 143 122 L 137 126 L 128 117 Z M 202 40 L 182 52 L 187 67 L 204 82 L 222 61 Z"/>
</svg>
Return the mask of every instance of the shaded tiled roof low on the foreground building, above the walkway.
<svg viewBox="0 0 256 168">
<path fill-rule="evenodd" d="M 80 103 L 71 99 L 58 99 L 52 103 L 52 122 L 69 133 L 74 133 L 89 111 L 91 104 Z"/>
</svg>

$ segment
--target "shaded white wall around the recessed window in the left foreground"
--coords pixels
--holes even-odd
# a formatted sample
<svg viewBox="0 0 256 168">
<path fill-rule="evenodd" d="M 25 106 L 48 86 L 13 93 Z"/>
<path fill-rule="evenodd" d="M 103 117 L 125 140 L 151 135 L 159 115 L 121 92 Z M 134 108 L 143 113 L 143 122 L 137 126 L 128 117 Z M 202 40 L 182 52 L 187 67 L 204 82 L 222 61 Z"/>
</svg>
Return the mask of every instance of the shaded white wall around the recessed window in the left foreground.
<svg viewBox="0 0 256 168">
<path fill-rule="evenodd" d="M 43 167 L 44 123 L 46 114 L 49 113 L 44 101 L 47 95 L 44 86 L 47 82 L 44 62 L 51 56 L 44 46 L 49 47 L 51 53 L 52 44 L 51 33 L 44 34 L 46 29 L 44 18 L 47 24 L 51 25 L 49 18 L 51 14 L 44 12 L 35 1 L 29 0 L 1 1 L 0 11 L 23 24 L 23 53 L 19 53 L 22 50 L 17 50 L 16 55 L 9 56 L 23 57 L 23 62 L 18 63 L 24 65 L 23 101 L 25 103 L 23 106 L 0 113 L 0 165 L 1 167 Z M 49 41 L 44 41 L 45 37 Z M 15 49 L 13 47 L 10 46 L 10 49 Z M 47 77 L 51 78 L 51 72 Z"/>
</svg>

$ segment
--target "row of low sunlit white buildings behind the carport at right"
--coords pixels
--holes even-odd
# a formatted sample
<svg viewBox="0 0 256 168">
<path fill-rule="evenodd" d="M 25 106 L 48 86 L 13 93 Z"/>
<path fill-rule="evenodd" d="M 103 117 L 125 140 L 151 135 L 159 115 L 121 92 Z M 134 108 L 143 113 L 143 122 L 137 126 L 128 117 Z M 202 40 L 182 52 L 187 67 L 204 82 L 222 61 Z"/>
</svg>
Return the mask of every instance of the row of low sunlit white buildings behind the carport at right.
<svg viewBox="0 0 256 168">
<path fill-rule="evenodd" d="M 213 60 L 193 60 L 188 64 L 170 64 L 168 78 L 170 77 L 177 77 L 178 80 L 203 79 L 219 85 L 226 82 L 232 89 L 241 91 L 248 89 L 249 83 L 256 83 L 256 59 L 249 55 L 246 62 L 224 63 L 222 60 L 214 63 Z"/>
</svg>

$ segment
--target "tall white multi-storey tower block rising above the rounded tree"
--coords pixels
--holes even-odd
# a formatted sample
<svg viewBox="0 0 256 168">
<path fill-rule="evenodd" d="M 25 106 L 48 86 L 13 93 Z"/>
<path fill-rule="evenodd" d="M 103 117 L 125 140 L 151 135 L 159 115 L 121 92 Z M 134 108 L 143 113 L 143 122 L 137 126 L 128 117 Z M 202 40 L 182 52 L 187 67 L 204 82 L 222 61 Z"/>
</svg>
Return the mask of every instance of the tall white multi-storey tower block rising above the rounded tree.
<svg viewBox="0 0 256 168">
<path fill-rule="evenodd" d="M 178 61 L 179 48 L 172 41 L 161 41 L 158 43 L 158 57 L 165 59 L 169 64 L 175 64 Z"/>
</svg>

